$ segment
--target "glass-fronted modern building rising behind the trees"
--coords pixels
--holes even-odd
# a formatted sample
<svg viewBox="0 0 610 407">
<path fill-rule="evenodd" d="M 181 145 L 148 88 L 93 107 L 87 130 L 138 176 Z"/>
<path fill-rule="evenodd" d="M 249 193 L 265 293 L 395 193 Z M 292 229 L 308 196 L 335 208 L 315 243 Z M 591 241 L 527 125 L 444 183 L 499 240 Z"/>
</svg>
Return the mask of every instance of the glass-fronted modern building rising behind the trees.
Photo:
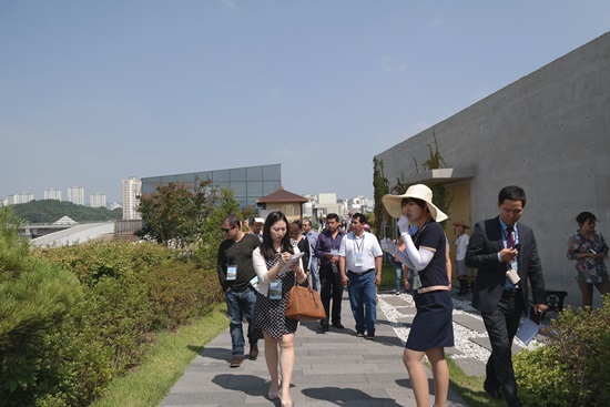
<svg viewBox="0 0 610 407">
<path fill-rule="evenodd" d="M 199 180 L 199 181 L 197 181 Z M 282 186 L 281 164 L 244 166 L 240 169 L 202 171 L 186 174 L 142 177 L 142 194 L 154 192 L 157 185 L 211 180 L 221 189 L 232 189 L 235 200 L 242 207 L 256 206 L 256 200 L 266 196 Z"/>
</svg>

